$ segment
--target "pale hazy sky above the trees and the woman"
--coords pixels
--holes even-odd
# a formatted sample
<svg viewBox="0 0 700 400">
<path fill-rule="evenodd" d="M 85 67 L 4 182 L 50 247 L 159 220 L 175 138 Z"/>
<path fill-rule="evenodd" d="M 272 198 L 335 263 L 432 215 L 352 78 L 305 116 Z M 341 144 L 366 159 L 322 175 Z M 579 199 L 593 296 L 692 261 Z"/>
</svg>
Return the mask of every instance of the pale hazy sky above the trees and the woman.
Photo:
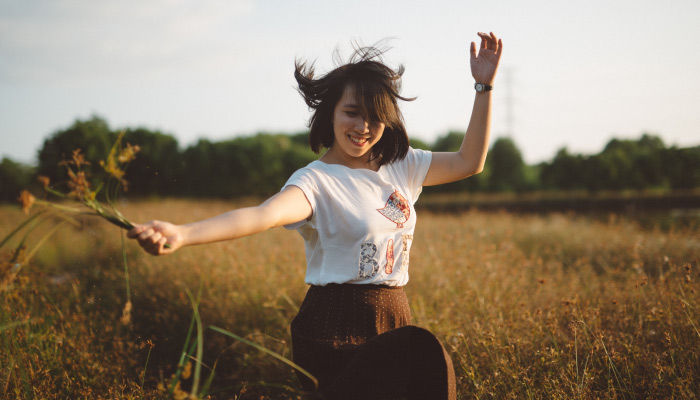
<svg viewBox="0 0 700 400">
<path fill-rule="evenodd" d="M 613 137 L 700 145 L 700 1 L 0 0 L 0 157 L 35 163 L 53 133 L 93 115 L 182 147 L 299 132 L 294 60 L 389 39 L 409 136 L 469 123 L 469 43 L 503 39 L 492 137 L 529 164 Z"/>
</svg>

